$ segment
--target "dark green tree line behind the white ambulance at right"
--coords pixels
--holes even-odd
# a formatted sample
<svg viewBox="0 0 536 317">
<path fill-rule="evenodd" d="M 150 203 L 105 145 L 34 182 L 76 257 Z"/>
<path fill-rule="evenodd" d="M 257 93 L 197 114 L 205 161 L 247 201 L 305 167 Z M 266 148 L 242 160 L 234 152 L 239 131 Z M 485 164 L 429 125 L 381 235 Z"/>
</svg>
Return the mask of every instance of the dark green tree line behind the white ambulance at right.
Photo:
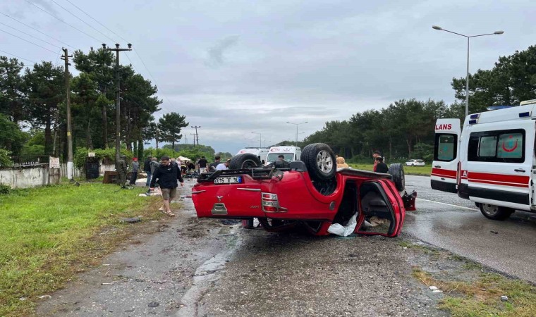
<svg viewBox="0 0 536 317">
<path fill-rule="evenodd" d="M 348 120 L 329 121 L 300 145 L 324 142 L 353 161 L 370 161 L 376 150 L 391 162 L 431 161 L 437 118 L 460 118 L 463 123 L 465 77 L 453 78 L 451 86 L 457 99 L 453 104 L 401 99 L 379 110 L 355 113 Z M 536 46 L 501 56 L 492 69 L 469 75 L 470 113 L 487 111 L 489 106 L 516 106 L 528 99 L 536 99 Z"/>
</svg>

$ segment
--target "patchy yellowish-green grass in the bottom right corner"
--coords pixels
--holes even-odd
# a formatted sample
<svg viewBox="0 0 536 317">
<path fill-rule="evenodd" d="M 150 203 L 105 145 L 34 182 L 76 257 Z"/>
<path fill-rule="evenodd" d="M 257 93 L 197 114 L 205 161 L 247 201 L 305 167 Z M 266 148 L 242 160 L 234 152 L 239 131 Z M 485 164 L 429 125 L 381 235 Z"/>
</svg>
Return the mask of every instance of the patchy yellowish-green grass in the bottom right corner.
<svg viewBox="0 0 536 317">
<path fill-rule="evenodd" d="M 535 316 L 536 287 L 528 282 L 505 278 L 495 273 L 482 273 L 474 281 L 444 281 L 430 273 L 413 268 L 413 277 L 427 286 L 437 286 L 445 297 L 439 309 L 452 316 Z M 508 297 L 501 302 L 501 296 Z"/>
</svg>

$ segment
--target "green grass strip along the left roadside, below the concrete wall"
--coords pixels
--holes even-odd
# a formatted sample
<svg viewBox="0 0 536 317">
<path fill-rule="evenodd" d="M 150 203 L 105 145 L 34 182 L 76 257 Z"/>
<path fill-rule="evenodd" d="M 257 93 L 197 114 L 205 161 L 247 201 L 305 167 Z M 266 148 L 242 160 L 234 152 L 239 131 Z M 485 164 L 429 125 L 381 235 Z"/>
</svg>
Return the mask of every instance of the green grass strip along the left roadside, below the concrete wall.
<svg viewBox="0 0 536 317">
<path fill-rule="evenodd" d="M 161 217 L 157 197 L 138 197 L 144 190 L 83 182 L 0 195 L 0 316 L 32 315 L 39 296 L 94 266 L 141 225 L 120 218 Z"/>
</svg>

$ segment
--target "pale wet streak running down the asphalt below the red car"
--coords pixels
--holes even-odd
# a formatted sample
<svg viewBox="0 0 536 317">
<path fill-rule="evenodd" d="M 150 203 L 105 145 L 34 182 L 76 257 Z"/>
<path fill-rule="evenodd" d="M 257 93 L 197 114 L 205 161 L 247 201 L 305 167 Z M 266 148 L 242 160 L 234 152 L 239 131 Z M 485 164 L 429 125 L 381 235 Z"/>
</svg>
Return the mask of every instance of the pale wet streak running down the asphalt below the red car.
<svg viewBox="0 0 536 317">
<path fill-rule="evenodd" d="M 224 235 L 227 248 L 212 256 L 195 270 L 192 287 L 182 297 L 181 305 L 184 306 L 178 311 L 177 316 L 197 316 L 197 304 L 200 299 L 209 290 L 212 282 L 218 280 L 219 271 L 225 267 L 226 261 L 231 259 L 233 253 L 242 244 L 242 237 L 238 230 L 240 230 L 240 225 L 235 225 L 229 234 Z"/>
</svg>

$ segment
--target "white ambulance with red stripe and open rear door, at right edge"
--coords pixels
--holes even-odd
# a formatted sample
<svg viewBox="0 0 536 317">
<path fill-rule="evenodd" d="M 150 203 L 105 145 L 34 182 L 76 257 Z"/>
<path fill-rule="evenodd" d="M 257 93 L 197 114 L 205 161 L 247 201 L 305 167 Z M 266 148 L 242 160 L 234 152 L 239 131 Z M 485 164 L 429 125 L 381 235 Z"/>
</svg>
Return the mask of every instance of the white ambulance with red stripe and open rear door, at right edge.
<svg viewBox="0 0 536 317">
<path fill-rule="evenodd" d="M 536 212 L 535 134 L 536 99 L 471 114 L 463 130 L 459 119 L 438 119 L 432 189 L 457 192 L 494 220 Z"/>
</svg>

